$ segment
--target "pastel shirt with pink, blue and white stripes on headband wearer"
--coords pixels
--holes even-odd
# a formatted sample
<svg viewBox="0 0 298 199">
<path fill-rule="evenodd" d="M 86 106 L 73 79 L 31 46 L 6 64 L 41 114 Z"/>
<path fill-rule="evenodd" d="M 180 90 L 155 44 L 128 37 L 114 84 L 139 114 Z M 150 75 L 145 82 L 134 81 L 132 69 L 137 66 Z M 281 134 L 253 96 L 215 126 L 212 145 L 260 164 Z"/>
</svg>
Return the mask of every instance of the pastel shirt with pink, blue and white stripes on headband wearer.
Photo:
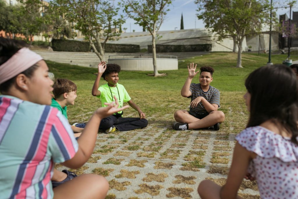
<svg viewBox="0 0 298 199">
<path fill-rule="evenodd" d="M 0 96 L 1 198 L 53 198 L 53 165 L 71 159 L 77 150 L 58 109 Z"/>
</svg>

